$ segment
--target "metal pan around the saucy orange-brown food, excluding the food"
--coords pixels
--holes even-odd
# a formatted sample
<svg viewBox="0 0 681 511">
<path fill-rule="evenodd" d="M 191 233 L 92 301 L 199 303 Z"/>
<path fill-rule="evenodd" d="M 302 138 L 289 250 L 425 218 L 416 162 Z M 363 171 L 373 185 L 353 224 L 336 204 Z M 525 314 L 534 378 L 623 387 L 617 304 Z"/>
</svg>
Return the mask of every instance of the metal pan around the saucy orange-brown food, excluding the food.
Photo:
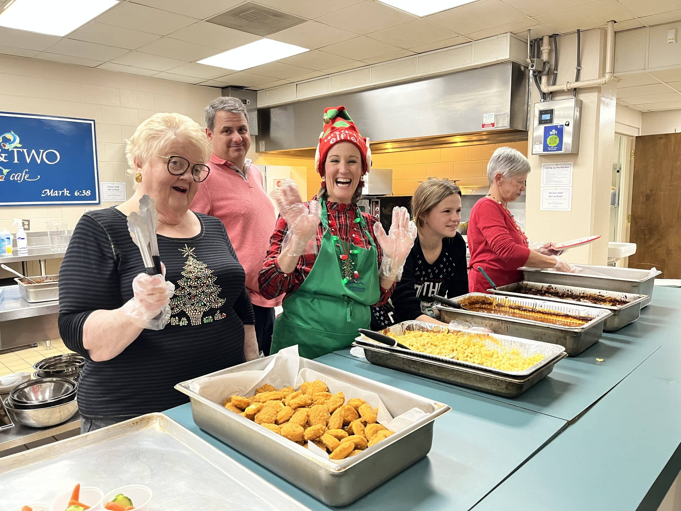
<svg viewBox="0 0 681 511">
<path fill-rule="evenodd" d="M 463 298 L 471 295 L 486 296 L 488 298 L 494 296 L 483 293 L 464 294 L 454 298 L 457 302 L 461 302 Z M 480 326 L 486 326 L 495 334 L 510 335 L 512 337 L 522 337 L 523 339 L 532 339 L 533 341 L 541 341 L 544 343 L 558 344 L 565 347 L 568 355 L 577 355 L 582 353 L 586 348 L 597 343 L 603 335 L 603 323 L 612 315 L 610 311 L 603 309 L 593 309 L 590 307 L 582 307 L 576 305 L 563 305 L 542 300 L 523 300 L 516 297 L 496 297 L 504 300 L 522 300 L 523 302 L 534 302 L 535 307 L 544 307 L 547 310 L 553 311 L 569 311 L 573 309 L 588 309 L 589 313 L 594 316 L 587 324 L 570 328 L 567 326 L 558 326 L 548 323 L 542 323 L 532 320 L 521 320 L 519 318 L 511 318 L 499 314 L 491 314 L 484 312 L 472 312 L 464 309 L 454 309 L 445 305 L 434 304 L 434 309 L 440 311 L 441 320 L 443 322 L 450 322 L 454 320 L 466 321 L 475 323 Z M 567 309 L 566 309 L 567 308 Z M 581 312 L 581 310 L 580 310 Z"/>
</svg>

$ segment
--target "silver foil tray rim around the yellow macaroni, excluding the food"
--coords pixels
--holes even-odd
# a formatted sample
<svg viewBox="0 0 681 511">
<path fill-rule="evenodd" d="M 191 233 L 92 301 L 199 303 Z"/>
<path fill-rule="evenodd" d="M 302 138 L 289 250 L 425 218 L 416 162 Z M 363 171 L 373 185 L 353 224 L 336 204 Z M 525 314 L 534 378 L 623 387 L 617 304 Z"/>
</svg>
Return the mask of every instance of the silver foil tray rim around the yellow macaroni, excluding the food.
<svg viewBox="0 0 681 511">
<path fill-rule="evenodd" d="M 381 333 L 386 334 L 387 332 L 390 332 L 394 335 L 403 335 L 405 332 L 408 332 L 410 330 L 420 330 L 426 332 L 449 331 L 449 329 L 445 326 L 439 326 L 432 323 L 426 323 L 423 321 L 404 321 L 398 324 L 394 324 L 393 326 L 389 326 L 388 328 L 385 328 L 385 330 L 381 330 Z M 484 341 L 486 347 L 492 350 L 509 350 L 509 351 L 518 350 L 518 352 L 520 352 L 520 354 L 525 357 L 533 356 L 534 354 L 539 353 L 542 354 L 544 358 L 543 360 L 540 360 L 532 367 L 528 367 L 528 369 L 525 369 L 524 371 L 504 371 L 503 369 L 496 369 L 496 367 L 487 367 L 481 364 L 475 364 L 473 362 L 466 362 L 465 360 L 457 360 L 456 358 L 447 358 L 445 356 L 432 355 L 429 353 L 417 352 L 413 350 L 411 351 L 404 350 L 401 347 L 387 346 L 381 343 L 376 343 L 375 341 L 372 341 L 371 339 L 368 339 L 368 337 L 364 337 L 363 335 L 360 335 L 360 337 L 356 338 L 355 341 L 362 341 L 364 343 L 379 345 L 381 347 L 385 346 L 387 350 L 391 350 L 396 354 L 404 353 L 409 354 L 411 356 L 427 358 L 428 360 L 442 362 L 447 365 L 462 365 L 466 367 L 471 367 L 472 369 L 478 369 L 479 371 L 497 373 L 501 375 L 508 375 L 514 377 L 528 376 L 534 373 L 543 365 L 548 364 L 553 358 L 556 358 L 556 356 L 565 351 L 565 347 L 557 344 L 542 343 L 539 341 L 531 341 L 530 339 L 509 337 L 507 335 L 485 334 L 480 332 L 469 333 L 473 335 L 479 335 L 480 336 L 479 340 Z M 490 338 L 494 339 L 494 341 L 496 342 L 491 341 Z"/>
</svg>

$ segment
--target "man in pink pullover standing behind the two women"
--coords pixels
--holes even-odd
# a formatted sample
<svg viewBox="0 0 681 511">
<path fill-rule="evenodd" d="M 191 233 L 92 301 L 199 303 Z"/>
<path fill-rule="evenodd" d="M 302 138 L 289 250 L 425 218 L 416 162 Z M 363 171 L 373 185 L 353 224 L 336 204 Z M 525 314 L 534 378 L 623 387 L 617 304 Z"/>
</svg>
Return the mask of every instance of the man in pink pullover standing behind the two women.
<svg viewBox="0 0 681 511">
<path fill-rule="evenodd" d="M 255 313 L 258 347 L 270 354 L 274 307 L 283 296 L 263 298 L 257 283 L 270 236 L 274 232 L 274 205 L 263 189 L 260 170 L 246 157 L 251 147 L 246 107 L 236 97 L 214 99 L 204 112 L 206 135 L 212 142 L 210 175 L 201 183 L 191 209 L 221 219 L 229 241 L 246 273 L 246 288 Z"/>
</svg>

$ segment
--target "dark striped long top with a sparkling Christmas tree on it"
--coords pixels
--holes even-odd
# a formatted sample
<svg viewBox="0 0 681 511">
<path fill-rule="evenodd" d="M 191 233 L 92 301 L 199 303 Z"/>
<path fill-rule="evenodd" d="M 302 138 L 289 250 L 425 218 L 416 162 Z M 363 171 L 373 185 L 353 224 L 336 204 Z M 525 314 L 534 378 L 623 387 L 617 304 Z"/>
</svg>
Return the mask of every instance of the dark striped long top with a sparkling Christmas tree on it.
<svg viewBox="0 0 681 511">
<path fill-rule="evenodd" d="M 193 238 L 158 236 L 165 278 L 175 284 L 163 330 L 142 330 L 118 356 L 94 362 L 82 328 L 98 309 L 122 307 L 144 271 L 125 215 L 115 208 L 85 213 L 59 270 L 59 332 L 86 358 L 78 407 L 87 417 L 128 418 L 187 402 L 174 385 L 244 362 L 244 324 L 253 324 L 244 270 L 223 223 L 196 213 Z"/>
</svg>

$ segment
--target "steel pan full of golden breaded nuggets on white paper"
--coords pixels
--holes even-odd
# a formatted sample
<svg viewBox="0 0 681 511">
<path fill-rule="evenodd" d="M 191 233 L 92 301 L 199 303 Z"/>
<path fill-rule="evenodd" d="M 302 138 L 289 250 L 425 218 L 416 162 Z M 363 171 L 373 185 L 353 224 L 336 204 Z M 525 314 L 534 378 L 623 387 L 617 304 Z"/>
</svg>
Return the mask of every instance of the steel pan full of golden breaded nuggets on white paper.
<svg viewBox="0 0 681 511">
<path fill-rule="evenodd" d="M 287 350 L 175 388 L 198 427 L 330 506 L 428 454 L 449 406 Z"/>
</svg>

